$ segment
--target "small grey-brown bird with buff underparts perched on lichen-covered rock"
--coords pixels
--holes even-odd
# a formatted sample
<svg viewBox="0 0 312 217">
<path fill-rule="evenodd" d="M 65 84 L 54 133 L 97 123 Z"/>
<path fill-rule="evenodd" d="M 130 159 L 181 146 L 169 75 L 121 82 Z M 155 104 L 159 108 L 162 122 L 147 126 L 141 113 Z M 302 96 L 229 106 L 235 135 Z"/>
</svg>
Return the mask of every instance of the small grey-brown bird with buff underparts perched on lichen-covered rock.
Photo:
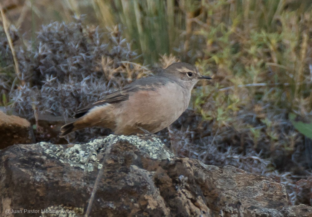
<svg viewBox="0 0 312 217">
<path fill-rule="evenodd" d="M 212 78 L 191 64 L 173 63 L 78 110 L 78 119 L 62 126 L 60 137 L 87 127 L 110 128 L 116 135 L 157 133 L 188 108 L 191 91 L 202 79 Z"/>
</svg>

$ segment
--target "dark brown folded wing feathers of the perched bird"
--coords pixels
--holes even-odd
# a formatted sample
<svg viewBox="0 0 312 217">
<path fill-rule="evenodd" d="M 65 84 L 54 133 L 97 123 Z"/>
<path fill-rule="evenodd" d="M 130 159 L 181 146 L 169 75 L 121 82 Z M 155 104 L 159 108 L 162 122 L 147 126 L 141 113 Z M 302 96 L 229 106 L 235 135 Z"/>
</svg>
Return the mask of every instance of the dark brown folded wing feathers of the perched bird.
<svg viewBox="0 0 312 217">
<path fill-rule="evenodd" d="M 102 99 L 98 100 L 97 102 L 82 108 L 80 110 L 78 110 L 75 114 L 74 114 L 74 118 L 80 118 L 81 116 L 85 115 L 85 113 L 87 113 L 91 108 L 95 107 L 95 106 L 99 106 L 99 105 L 104 105 L 104 104 L 113 104 L 113 103 L 119 103 L 122 101 L 125 101 L 127 99 L 129 99 L 129 94 L 130 92 L 135 91 L 134 90 L 135 87 L 130 85 L 128 87 L 125 87 L 121 90 L 117 90 L 111 94 L 106 95 L 105 97 L 103 97 Z"/>
</svg>

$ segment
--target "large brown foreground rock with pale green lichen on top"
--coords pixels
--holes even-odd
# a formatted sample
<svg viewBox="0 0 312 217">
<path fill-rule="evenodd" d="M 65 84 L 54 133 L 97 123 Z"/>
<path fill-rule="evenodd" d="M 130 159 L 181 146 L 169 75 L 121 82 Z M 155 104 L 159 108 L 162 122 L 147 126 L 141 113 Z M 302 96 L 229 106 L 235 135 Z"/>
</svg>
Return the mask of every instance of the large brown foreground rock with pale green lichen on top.
<svg viewBox="0 0 312 217">
<path fill-rule="evenodd" d="M 110 135 L 2 150 L 0 216 L 83 216 L 99 171 L 90 216 L 312 215 L 267 177 L 174 157 L 157 137 Z"/>
</svg>

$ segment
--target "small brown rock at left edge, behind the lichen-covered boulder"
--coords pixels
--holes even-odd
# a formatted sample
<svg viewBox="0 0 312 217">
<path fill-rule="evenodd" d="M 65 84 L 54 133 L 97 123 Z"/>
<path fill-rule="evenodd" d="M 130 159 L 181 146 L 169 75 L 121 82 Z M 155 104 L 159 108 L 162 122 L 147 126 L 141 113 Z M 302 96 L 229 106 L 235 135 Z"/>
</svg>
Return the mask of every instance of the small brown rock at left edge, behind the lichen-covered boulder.
<svg viewBox="0 0 312 217">
<path fill-rule="evenodd" d="M 33 131 L 26 119 L 0 111 L 0 149 L 32 142 L 35 142 Z"/>
</svg>

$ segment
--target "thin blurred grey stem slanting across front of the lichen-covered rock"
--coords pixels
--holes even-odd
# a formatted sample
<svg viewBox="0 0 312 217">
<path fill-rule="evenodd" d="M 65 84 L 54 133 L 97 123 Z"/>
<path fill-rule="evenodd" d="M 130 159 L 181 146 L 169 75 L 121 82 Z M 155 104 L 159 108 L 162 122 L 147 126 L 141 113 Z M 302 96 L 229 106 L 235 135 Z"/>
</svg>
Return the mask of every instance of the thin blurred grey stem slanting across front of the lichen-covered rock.
<svg viewBox="0 0 312 217">
<path fill-rule="evenodd" d="M 103 173 L 104 173 L 104 168 L 105 168 L 105 165 L 106 165 L 106 161 L 107 161 L 107 158 L 109 156 L 109 153 L 110 153 L 110 150 L 111 150 L 111 147 L 113 145 L 113 142 L 114 142 L 114 139 L 116 138 L 116 136 L 112 137 L 110 139 L 110 141 L 108 142 L 108 146 L 104 152 L 104 158 L 103 158 L 103 163 L 102 163 L 102 168 L 99 170 L 99 173 L 98 175 L 96 176 L 96 180 L 95 180 L 95 183 L 94 183 L 94 186 L 93 186 L 93 190 L 91 192 L 91 195 L 90 195 L 90 199 L 89 199 L 89 203 L 88 203 L 88 207 L 87 207 L 87 211 L 85 212 L 85 217 L 89 217 L 90 215 L 90 212 L 91 212 L 91 209 L 92 209 L 92 204 L 93 204 L 93 200 L 94 200 L 94 197 L 95 197 L 95 193 L 96 193 L 96 190 L 99 186 L 99 183 L 100 183 L 100 180 L 103 176 Z"/>
</svg>

